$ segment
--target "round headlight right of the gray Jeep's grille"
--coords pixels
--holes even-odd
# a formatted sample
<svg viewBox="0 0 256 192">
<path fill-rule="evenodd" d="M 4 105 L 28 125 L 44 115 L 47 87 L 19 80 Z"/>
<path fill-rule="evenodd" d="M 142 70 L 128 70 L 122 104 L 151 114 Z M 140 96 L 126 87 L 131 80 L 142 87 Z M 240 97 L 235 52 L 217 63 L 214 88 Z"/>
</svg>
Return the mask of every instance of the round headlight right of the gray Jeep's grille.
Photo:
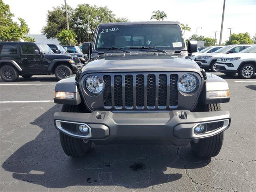
<svg viewBox="0 0 256 192">
<path fill-rule="evenodd" d="M 196 89 L 196 76 L 193 74 L 183 75 L 178 82 L 178 88 L 184 93 L 191 93 Z"/>
</svg>

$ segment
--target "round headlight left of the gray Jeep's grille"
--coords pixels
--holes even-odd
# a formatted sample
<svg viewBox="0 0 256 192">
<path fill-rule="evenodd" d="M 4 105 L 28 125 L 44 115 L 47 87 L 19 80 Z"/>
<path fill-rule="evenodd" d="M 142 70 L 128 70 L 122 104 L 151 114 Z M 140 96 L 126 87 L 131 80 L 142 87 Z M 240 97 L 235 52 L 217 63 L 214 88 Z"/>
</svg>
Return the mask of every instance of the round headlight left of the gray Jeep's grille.
<svg viewBox="0 0 256 192">
<path fill-rule="evenodd" d="M 103 81 L 96 75 L 91 75 L 86 80 L 86 88 L 92 93 L 100 93 L 103 90 Z"/>
</svg>

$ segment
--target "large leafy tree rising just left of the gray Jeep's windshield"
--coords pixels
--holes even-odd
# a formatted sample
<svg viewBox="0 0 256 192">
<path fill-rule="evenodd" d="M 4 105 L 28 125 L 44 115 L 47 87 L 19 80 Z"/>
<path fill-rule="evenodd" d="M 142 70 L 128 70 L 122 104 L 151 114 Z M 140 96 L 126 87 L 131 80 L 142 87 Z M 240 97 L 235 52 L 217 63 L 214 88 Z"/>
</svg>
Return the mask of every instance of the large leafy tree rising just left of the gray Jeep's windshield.
<svg viewBox="0 0 256 192">
<path fill-rule="evenodd" d="M 115 15 L 107 7 L 89 4 L 79 4 L 71 18 L 78 42 L 88 42 L 88 34 L 90 40 L 93 40 L 98 24 L 116 22 Z"/>
</svg>

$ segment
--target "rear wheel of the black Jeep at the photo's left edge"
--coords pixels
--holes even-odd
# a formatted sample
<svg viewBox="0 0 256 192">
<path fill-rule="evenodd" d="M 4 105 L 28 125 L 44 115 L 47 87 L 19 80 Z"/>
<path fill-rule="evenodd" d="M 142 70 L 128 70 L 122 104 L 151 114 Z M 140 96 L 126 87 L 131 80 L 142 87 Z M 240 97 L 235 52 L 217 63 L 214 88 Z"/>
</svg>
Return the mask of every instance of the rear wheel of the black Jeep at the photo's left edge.
<svg viewBox="0 0 256 192">
<path fill-rule="evenodd" d="M 0 76 L 6 82 L 14 82 L 19 78 L 19 72 L 10 65 L 4 65 L 0 69 Z"/>
</svg>

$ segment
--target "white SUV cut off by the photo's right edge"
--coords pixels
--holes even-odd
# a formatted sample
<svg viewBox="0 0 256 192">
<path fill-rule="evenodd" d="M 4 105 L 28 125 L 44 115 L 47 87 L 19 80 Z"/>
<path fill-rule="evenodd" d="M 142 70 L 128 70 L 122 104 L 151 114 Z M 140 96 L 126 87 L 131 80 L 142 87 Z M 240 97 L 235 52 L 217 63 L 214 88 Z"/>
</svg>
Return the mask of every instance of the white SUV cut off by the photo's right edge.
<svg viewBox="0 0 256 192">
<path fill-rule="evenodd" d="M 256 45 L 241 52 L 219 57 L 216 69 L 226 75 L 238 73 L 240 78 L 252 78 L 256 68 Z"/>
</svg>

